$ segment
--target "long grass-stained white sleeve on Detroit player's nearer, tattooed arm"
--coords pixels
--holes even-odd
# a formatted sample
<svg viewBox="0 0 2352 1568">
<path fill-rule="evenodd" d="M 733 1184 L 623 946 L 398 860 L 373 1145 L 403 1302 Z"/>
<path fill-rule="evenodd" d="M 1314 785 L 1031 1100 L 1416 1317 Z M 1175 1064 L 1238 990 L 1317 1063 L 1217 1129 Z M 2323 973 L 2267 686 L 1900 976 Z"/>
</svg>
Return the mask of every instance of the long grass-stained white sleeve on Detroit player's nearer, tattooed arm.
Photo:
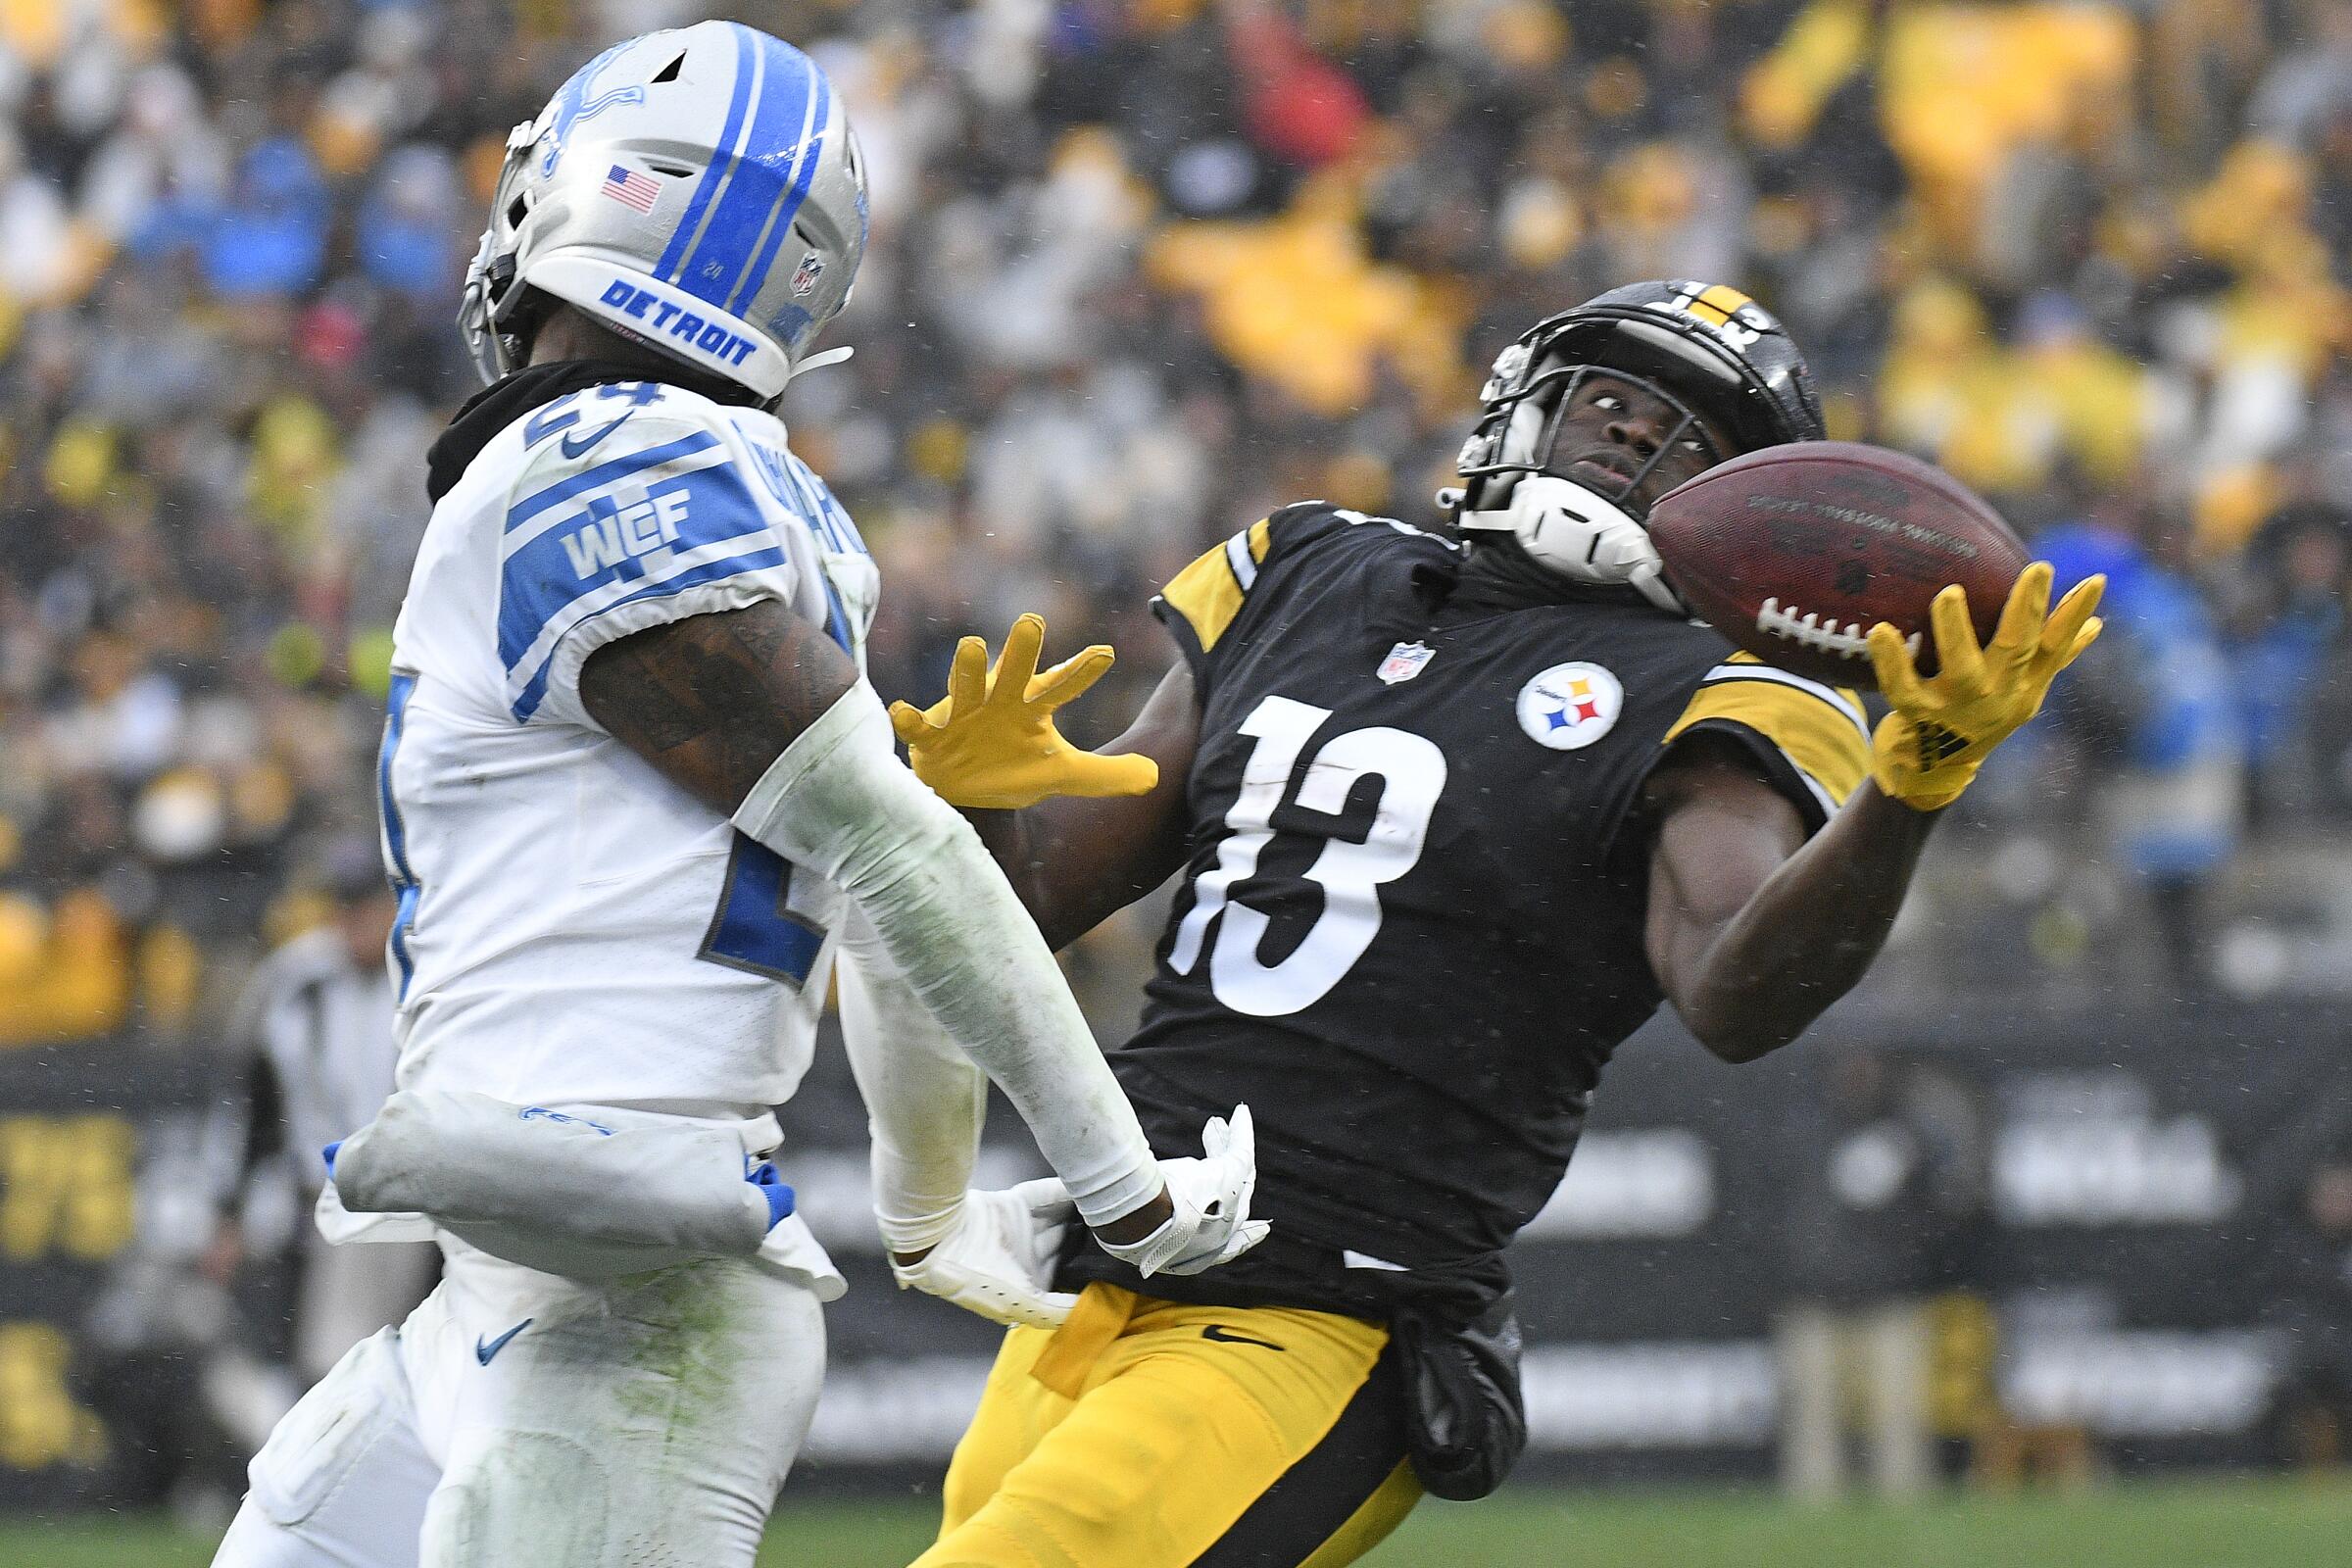
<svg viewBox="0 0 2352 1568">
<path fill-rule="evenodd" d="M 906 985 L 1028 1121 L 1087 1225 L 1162 1190 L 1044 936 L 971 825 L 898 762 L 873 686 L 844 691 L 783 748 L 734 823 L 866 912 Z"/>
</svg>

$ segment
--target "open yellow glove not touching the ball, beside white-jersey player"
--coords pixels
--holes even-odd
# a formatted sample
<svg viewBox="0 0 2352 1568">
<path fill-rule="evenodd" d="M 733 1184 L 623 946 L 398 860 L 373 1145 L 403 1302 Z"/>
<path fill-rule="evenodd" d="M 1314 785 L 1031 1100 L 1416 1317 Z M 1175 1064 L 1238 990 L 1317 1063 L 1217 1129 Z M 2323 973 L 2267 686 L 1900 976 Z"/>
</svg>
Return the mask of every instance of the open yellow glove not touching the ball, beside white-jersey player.
<svg viewBox="0 0 2352 1568">
<path fill-rule="evenodd" d="M 1049 795 L 1143 795 L 1160 783 L 1160 764 L 1150 757 L 1082 752 L 1054 729 L 1054 712 L 1098 682 L 1115 654 L 1094 644 L 1040 675 L 1040 649 L 1044 618 L 1021 616 L 993 670 L 988 644 L 964 637 L 955 644 L 948 696 L 927 710 L 889 705 L 915 778 L 950 806 L 1018 811 Z"/>
</svg>

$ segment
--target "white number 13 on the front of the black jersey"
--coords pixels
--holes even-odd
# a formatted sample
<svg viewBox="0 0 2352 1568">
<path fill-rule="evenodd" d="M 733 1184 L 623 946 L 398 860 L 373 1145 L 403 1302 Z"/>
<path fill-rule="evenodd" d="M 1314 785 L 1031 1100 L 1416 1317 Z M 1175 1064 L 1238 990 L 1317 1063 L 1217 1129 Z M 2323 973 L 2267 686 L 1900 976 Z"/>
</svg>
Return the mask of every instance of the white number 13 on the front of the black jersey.
<svg viewBox="0 0 2352 1568">
<path fill-rule="evenodd" d="M 1258 856 L 1275 839 L 1275 811 L 1298 771 L 1298 752 L 1315 736 L 1329 708 L 1270 696 L 1242 722 L 1256 745 L 1242 764 L 1242 790 L 1225 813 L 1225 842 L 1216 865 L 1192 882 L 1192 907 L 1176 926 L 1169 969 L 1192 973 L 1207 950 L 1209 990 L 1235 1013 L 1279 1018 L 1298 1013 L 1338 985 L 1381 933 L 1381 884 L 1395 882 L 1421 860 L 1421 846 L 1446 788 L 1446 757 L 1423 736 L 1376 724 L 1350 729 L 1322 743 L 1308 759 L 1291 806 L 1338 816 L 1359 778 L 1381 776 L 1371 830 L 1362 842 L 1327 837 L 1303 872 L 1322 889 L 1322 914 L 1289 957 L 1258 957 L 1272 924 L 1235 898 L 1235 886 L 1258 870 Z M 1209 940 L 1216 926 L 1216 940 Z"/>
</svg>

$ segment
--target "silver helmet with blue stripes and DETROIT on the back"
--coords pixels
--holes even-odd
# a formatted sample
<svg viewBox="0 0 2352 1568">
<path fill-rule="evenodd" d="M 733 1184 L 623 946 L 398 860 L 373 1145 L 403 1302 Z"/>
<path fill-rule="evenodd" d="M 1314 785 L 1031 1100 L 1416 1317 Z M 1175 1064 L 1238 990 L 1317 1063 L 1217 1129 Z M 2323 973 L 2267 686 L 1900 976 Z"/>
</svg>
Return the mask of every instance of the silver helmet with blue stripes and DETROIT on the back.
<svg viewBox="0 0 2352 1568">
<path fill-rule="evenodd" d="M 560 299 L 771 400 L 863 256 L 866 167 L 833 82 L 703 21 L 614 45 L 515 127 L 459 329 L 496 381 L 529 353 L 529 301 Z"/>
</svg>

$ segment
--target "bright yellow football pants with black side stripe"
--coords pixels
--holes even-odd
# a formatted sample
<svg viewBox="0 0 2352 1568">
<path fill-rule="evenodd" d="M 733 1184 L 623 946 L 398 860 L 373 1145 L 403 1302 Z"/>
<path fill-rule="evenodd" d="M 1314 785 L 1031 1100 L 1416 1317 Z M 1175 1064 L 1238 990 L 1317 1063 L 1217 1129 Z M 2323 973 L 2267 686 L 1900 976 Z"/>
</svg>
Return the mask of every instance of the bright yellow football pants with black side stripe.
<svg viewBox="0 0 2352 1568">
<path fill-rule="evenodd" d="M 915 1568 L 1341 1568 L 1421 1500 L 1388 1328 L 1087 1286 L 1014 1328 Z"/>
</svg>

